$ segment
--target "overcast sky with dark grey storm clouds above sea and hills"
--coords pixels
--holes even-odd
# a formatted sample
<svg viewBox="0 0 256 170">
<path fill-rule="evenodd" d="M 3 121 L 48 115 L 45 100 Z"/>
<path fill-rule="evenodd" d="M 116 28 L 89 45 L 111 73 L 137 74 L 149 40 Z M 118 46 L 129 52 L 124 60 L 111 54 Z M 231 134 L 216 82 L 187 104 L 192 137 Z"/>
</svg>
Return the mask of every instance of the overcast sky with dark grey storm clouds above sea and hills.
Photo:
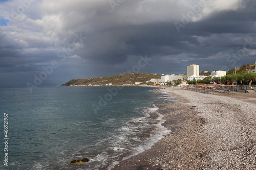
<svg viewBox="0 0 256 170">
<path fill-rule="evenodd" d="M 254 0 L 0 0 L 0 87 L 256 60 Z"/>
</svg>

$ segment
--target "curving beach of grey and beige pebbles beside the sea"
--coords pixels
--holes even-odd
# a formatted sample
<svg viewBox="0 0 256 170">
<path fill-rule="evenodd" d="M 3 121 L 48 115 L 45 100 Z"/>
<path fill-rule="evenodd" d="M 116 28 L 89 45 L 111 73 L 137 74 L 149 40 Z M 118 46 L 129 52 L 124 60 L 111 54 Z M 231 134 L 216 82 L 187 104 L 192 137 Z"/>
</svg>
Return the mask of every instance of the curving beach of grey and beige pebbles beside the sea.
<svg viewBox="0 0 256 170">
<path fill-rule="evenodd" d="M 161 91 L 179 100 L 158 106 L 172 132 L 113 169 L 256 169 L 256 92 Z"/>
</svg>

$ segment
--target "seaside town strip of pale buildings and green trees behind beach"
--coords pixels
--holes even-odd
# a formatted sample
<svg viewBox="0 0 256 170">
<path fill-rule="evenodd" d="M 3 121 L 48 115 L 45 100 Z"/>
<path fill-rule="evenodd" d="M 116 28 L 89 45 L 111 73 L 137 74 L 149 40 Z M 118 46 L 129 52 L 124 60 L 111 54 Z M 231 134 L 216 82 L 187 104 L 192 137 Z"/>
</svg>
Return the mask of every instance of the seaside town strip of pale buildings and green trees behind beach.
<svg viewBox="0 0 256 170">
<path fill-rule="evenodd" d="M 187 74 L 161 75 L 161 78 L 152 78 L 145 82 L 135 82 L 131 84 L 122 84 L 122 86 L 172 86 L 184 87 L 191 90 L 204 92 L 254 92 L 256 81 L 256 61 L 252 64 L 244 64 L 241 67 L 233 68 L 226 72 L 225 70 L 199 71 L 199 65 L 191 64 L 187 66 Z M 133 73 L 136 74 L 136 73 Z M 157 74 L 154 74 L 157 75 Z M 254 83 L 254 84 L 253 84 Z M 115 83 L 105 83 L 101 86 L 115 86 Z M 68 86 L 95 86 L 73 85 Z"/>
</svg>

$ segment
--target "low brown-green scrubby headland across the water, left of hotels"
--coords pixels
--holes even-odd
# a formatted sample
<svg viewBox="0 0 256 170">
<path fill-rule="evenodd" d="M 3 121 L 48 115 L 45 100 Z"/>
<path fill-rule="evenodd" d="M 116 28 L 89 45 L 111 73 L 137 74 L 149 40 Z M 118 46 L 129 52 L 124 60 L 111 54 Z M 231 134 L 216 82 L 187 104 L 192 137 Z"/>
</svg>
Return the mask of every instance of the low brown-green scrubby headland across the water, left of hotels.
<svg viewBox="0 0 256 170">
<path fill-rule="evenodd" d="M 136 73 L 131 72 L 127 74 L 120 74 L 116 76 L 106 76 L 90 79 L 73 79 L 69 82 L 62 84 L 61 86 L 70 85 L 105 85 L 112 83 L 113 85 L 123 85 L 123 84 L 135 84 L 135 82 L 145 82 L 151 79 L 160 79 L 161 75 L 154 75 L 148 73 Z"/>
</svg>

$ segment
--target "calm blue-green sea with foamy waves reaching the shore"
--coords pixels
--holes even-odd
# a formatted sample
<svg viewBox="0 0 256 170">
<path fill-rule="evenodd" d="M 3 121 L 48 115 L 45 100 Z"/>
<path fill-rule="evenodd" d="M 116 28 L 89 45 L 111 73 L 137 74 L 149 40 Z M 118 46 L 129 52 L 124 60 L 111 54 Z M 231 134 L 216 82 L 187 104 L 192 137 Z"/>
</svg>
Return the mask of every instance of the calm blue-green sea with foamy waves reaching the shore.
<svg viewBox="0 0 256 170">
<path fill-rule="evenodd" d="M 157 106 L 176 101 L 153 89 L 0 88 L 0 169 L 111 169 L 150 149 L 170 132 Z"/>
</svg>

